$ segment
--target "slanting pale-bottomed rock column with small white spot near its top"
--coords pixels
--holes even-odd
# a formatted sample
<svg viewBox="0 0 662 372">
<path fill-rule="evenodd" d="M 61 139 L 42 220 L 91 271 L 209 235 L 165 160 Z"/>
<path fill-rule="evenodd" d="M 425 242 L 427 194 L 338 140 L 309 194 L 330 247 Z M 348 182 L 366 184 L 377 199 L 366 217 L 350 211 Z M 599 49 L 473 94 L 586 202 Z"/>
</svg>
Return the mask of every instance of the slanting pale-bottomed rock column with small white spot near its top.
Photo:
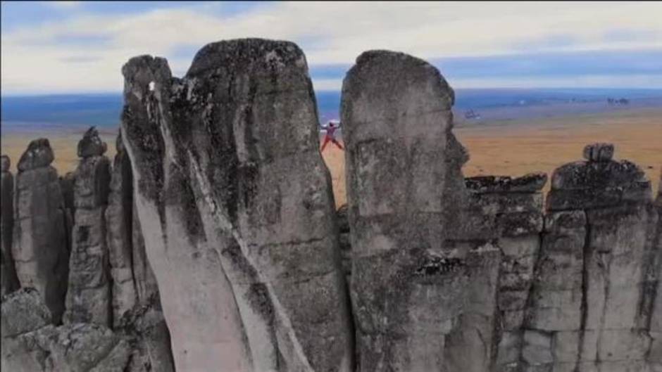
<svg viewBox="0 0 662 372">
<path fill-rule="evenodd" d="M 163 291 L 175 368 L 251 371 L 249 349 L 230 282 L 202 229 L 196 195 L 166 148 L 172 77 L 163 58 L 132 58 L 123 67 L 122 136 L 131 160 L 140 236 Z M 170 153 L 166 152 L 170 150 Z M 182 173 L 183 172 L 183 173 Z"/>
</svg>

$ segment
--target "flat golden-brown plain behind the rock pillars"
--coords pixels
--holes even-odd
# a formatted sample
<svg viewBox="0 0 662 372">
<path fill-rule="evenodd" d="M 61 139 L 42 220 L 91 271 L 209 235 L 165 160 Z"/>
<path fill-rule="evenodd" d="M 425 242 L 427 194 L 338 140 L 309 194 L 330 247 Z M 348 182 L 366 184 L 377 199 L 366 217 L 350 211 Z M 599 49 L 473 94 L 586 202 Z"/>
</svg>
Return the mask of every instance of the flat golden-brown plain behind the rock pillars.
<svg viewBox="0 0 662 372">
<path fill-rule="evenodd" d="M 54 167 L 60 174 L 78 164 L 80 134 L 3 134 L 2 153 L 11 158 L 11 168 L 27 143 L 46 136 L 55 152 Z M 551 173 L 556 167 L 582 159 L 587 143 L 610 142 L 614 158 L 642 167 L 657 190 L 662 171 L 662 108 L 622 110 L 616 113 L 549 117 L 535 120 L 459 123 L 454 133 L 468 148 L 470 160 L 463 167 L 466 177 L 477 175 L 521 176 L 530 172 Z M 108 155 L 115 155 L 115 133 L 101 132 Z M 331 172 L 336 205 L 346 203 L 344 152 L 330 143 L 322 154 Z M 546 188 L 549 188 L 549 182 Z"/>
</svg>

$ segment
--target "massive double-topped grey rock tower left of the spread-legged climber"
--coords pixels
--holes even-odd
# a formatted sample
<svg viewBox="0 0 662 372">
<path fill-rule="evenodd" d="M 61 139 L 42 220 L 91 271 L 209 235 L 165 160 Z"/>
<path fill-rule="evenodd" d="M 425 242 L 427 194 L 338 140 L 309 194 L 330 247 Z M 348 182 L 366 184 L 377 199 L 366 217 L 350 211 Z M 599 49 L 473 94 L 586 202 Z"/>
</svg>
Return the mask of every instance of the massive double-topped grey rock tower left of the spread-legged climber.
<svg viewBox="0 0 662 372">
<path fill-rule="evenodd" d="M 349 301 L 306 60 L 202 49 L 125 65 L 123 137 L 178 370 L 350 371 Z M 191 316 L 191 314 L 196 314 Z"/>
</svg>

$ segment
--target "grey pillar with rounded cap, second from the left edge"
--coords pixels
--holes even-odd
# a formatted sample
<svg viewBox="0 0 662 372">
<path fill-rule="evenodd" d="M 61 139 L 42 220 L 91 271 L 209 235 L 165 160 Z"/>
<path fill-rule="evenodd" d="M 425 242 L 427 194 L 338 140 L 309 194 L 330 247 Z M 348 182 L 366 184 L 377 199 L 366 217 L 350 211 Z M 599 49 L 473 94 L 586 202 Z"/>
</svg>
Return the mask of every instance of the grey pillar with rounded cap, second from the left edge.
<svg viewBox="0 0 662 372">
<path fill-rule="evenodd" d="M 30 142 L 18 162 L 12 255 L 22 287 L 44 297 L 53 322 L 64 312 L 69 247 L 66 211 L 47 139 Z"/>
</svg>

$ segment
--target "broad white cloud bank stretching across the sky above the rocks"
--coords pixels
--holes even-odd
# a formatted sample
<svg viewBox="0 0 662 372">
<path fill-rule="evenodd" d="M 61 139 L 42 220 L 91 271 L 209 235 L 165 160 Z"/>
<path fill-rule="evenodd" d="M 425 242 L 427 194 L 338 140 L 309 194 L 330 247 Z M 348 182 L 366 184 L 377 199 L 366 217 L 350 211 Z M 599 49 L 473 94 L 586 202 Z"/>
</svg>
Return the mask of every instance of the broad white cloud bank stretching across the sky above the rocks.
<svg viewBox="0 0 662 372">
<path fill-rule="evenodd" d="M 309 65 L 350 64 L 368 49 L 392 49 L 422 58 L 659 49 L 660 19 L 662 3 L 611 2 L 286 2 L 231 16 L 194 8 L 132 15 L 82 13 L 2 34 L 2 91 L 120 91 L 120 68 L 132 56 L 168 57 L 178 46 L 203 46 L 238 37 L 299 42 Z M 650 37 L 605 39 L 610 30 L 630 30 Z M 532 49 L 532 41 L 558 34 L 569 34 L 573 42 L 559 46 L 543 43 Z M 72 37 L 108 41 L 80 45 L 57 42 Z M 522 45 L 528 49 L 523 51 Z M 181 58 L 169 60 L 173 71 L 185 71 L 190 63 Z M 318 80 L 317 84 L 330 87 L 337 81 Z"/>
</svg>

